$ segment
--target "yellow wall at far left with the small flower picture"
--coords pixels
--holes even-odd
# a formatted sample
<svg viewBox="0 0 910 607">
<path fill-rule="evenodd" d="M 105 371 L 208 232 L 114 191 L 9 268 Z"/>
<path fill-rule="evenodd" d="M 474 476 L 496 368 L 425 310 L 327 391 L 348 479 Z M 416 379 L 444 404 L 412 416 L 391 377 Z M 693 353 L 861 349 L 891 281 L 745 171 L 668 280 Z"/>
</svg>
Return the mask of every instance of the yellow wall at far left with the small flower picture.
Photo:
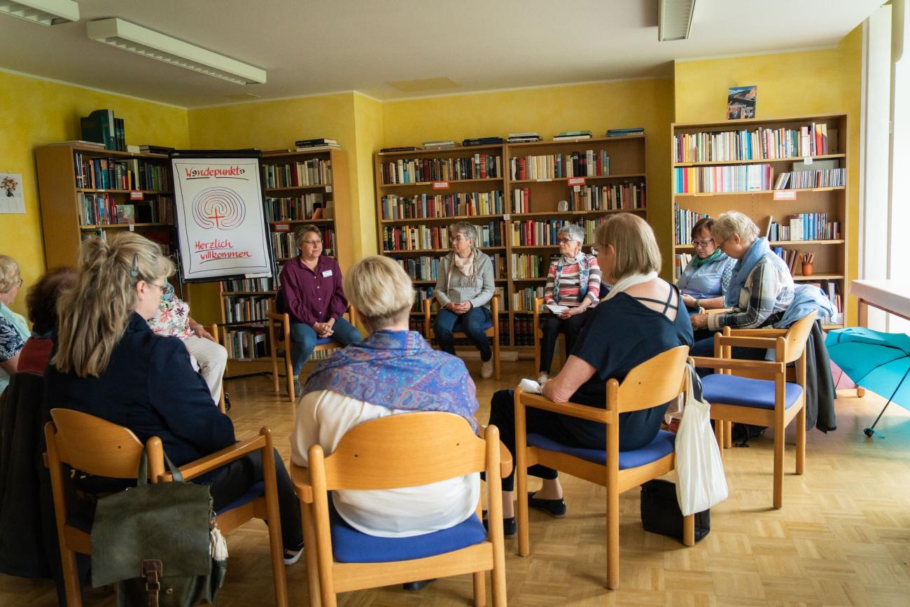
<svg viewBox="0 0 910 607">
<path fill-rule="evenodd" d="M 0 91 L 0 172 L 21 173 L 25 188 L 25 215 L 0 215 L 0 253 L 19 263 L 25 287 L 12 308 L 25 313 L 25 291 L 45 271 L 35 147 L 79 139 L 79 116 L 100 108 L 125 120 L 127 144 L 185 147 L 187 110 L 8 72 L 0 72 Z"/>
</svg>

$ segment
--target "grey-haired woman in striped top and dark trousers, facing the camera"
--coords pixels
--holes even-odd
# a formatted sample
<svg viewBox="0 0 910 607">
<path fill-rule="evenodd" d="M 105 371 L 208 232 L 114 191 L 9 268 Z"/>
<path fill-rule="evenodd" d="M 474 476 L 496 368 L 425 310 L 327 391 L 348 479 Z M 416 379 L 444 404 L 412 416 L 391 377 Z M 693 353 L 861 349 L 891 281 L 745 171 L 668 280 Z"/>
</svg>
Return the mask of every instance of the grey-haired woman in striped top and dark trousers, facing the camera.
<svg viewBox="0 0 910 607">
<path fill-rule="evenodd" d="M 541 332 L 541 369 L 538 381 L 543 383 L 550 375 L 553 350 L 560 332 L 566 335 L 566 357 L 575 348 L 581 328 L 590 315 L 585 314 L 600 300 L 601 267 L 593 255 L 581 251 L 584 244 L 584 230 L 578 224 L 562 228 L 556 235 L 560 246 L 560 257 L 550 263 L 547 272 L 547 286 L 543 291 L 544 304 L 566 306 L 560 314 L 544 317 Z"/>
</svg>

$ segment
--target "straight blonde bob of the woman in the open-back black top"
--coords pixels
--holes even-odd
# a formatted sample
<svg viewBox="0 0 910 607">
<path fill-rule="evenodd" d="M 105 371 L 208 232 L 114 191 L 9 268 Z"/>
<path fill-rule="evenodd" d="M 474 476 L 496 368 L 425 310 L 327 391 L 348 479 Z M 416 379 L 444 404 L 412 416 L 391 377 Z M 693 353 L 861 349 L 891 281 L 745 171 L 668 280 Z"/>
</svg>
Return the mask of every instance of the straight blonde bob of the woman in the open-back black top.
<svg viewBox="0 0 910 607">
<path fill-rule="evenodd" d="M 594 232 L 594 245 L 600 249 L 612 245 L 616 263 L 610 278 L 615 280 L 661 268 L 661 251 L 657 248 L 654 230 L 632 213 L 618 213 L 598 226 Z"/>
</svg>

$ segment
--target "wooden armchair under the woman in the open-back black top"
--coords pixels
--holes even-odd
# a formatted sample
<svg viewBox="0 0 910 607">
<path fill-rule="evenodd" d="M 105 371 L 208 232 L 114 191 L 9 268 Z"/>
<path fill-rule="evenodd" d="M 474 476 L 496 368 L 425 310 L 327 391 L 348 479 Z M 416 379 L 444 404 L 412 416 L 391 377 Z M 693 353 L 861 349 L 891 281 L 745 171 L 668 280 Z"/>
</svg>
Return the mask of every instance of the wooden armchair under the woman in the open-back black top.
<svg viewBox="0 0 910 607">
<path fill-rule="evenodd" d="M 676 438 L 672 432 L 661 430 L 650 445 L 621 452 L 619 416 L 676 399 L 683 391 L 688 352 L 686 346 L 669 349 L 629 371 L 622 384 L 616 379 L 608 380 L 605 410 L 571 402 L 557 403 L 522 389 L 515 390 L 515 476 L 518 481 L 518 552 L 521 556 L 527 556 L 531 551 L 528 467 L 541 464 L 607 488 L 607 588 L 619 587 L 620 493 L 673 470 Z M 541 435 L 527 434 L 525 410 L 528 407 L 606 424 L 606 450 L 569 448 Z M 682 535 L 682 543 L 686 546 L 695 543 L 693 515 L 684 518 Z"/>
</svg>

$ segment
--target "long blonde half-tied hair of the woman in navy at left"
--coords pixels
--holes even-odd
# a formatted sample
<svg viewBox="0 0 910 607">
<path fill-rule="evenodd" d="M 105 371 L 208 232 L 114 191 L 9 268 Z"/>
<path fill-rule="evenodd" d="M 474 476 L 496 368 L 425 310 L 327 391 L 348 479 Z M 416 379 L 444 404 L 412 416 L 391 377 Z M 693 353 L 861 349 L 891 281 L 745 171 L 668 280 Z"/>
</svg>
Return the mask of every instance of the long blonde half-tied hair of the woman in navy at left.
<svg viewBox="0 0 910 607">
<path fill-rule="evenodd" d="M 157 243 L 138 234 L 84 240 L 76 287 L 57 299 L 59 334 L 51 363 L 80 378 L 100 376 L 136 307 L 136 283 L 173 273 L 174 263 Z"/>
</svg>

